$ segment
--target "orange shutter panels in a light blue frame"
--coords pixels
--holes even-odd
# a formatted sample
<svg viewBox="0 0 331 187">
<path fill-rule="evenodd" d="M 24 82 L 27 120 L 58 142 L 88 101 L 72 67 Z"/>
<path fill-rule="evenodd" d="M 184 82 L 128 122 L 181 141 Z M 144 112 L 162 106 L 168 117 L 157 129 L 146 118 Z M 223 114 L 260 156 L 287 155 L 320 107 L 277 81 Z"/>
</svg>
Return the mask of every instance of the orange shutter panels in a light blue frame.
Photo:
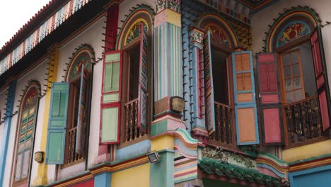
<svg viewBox="0 0 331 187">
<path fill-rule="evenodd" d="M 237 143 L 259 144 L 252 51 L 233 52 L 232 62 Z"/>
</svg>

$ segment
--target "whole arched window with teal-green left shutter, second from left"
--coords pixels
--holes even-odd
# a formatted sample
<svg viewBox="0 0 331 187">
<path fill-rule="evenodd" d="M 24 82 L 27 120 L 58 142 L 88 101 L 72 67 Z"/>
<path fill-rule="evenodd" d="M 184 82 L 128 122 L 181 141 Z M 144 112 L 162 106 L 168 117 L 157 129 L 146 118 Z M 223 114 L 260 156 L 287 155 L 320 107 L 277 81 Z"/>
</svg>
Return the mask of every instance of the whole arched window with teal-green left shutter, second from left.
<svg viewBox="0 0 331 187">
<path fill-rule="evenodd" d="M 91 46 L 79 47 L 69 62 L 65 82 L 52 84 L 47 164 L 71 164 L 86 158 L 93 55 Z"/>
</svg>

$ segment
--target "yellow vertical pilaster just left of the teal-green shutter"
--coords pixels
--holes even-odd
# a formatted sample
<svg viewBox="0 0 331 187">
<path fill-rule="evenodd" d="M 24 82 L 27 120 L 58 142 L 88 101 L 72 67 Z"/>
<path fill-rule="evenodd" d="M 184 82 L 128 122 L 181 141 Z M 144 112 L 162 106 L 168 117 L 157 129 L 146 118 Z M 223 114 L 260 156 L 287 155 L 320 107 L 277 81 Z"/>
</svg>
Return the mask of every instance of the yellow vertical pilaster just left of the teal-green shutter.
<svg viewBox="0 0 331 187">
<path fill-rule="evenodd" d="M 57 65 L 59 62 L 59 47 L 54 46 L 50 50 L 50 67 L 48 69 L 47 78 L 47 89 L 45 95 L 45 111 L 42 123 L 42 137 L 40 143 L 40 151 L 46 152 L 47 142 L 47 129 L 48 129 L 48 118 L 50 113 L 50 98 L 51 98 L 51 86 L 52 82 L 57 82 Z M 47 184 L 47 164 L 45 161 L 38 164 L 37 179 L 33 181 L 33 186 L 42 186 Z"/>
</svg>

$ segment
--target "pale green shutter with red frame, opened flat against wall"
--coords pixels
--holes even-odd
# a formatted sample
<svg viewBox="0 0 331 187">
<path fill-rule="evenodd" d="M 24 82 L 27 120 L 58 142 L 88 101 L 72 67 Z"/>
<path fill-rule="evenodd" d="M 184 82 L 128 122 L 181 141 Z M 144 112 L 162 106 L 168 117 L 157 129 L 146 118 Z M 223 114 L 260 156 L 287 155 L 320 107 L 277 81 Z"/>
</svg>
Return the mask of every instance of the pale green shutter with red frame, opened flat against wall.
<svg viewBox="0 0 331 187">
<path fill-rule="evenodd" d="M 120 142 L 122 50 L 105 52 L 100 112 L 100 145 Z"/>
</svg>

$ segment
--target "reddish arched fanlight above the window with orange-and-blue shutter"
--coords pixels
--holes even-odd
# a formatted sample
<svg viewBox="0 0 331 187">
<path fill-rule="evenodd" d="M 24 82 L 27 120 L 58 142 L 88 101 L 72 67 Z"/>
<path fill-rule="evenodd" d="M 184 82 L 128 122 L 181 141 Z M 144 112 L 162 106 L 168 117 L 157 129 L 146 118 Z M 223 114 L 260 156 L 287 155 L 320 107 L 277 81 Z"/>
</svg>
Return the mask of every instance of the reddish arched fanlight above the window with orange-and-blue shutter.
<svg viewBox="0 0 331 187">
<path fill-rule="evenodd" d="M 232 26 L 216 13 L 207 13 L 197 20 L 197 26 L 210 30 L 211 38 L 228 48 L 238 46 L 238 37 Z"/>
</svg>

